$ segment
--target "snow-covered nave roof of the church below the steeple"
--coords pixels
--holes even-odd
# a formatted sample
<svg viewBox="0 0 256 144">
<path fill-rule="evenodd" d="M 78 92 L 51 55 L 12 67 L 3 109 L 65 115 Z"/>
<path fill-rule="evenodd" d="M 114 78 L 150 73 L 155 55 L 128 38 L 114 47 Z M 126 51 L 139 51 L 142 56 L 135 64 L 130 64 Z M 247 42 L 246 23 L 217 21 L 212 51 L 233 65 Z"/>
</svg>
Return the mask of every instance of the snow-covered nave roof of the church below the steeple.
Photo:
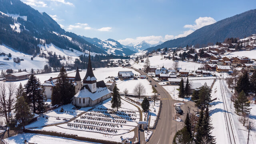
<svg viewBox="0 0 256 144">
<path fill-rule="evenodd" d="M 92 93 L 90 90 L 86 88 L 86 86 L 83 86 L 81 90 L 74 96 L 75 98 L 90 98 L 91 100 L 97 100 L 98 98 L 101 98 L 102 96 L 105 96 L 107 94 L 110 94 L 111 91 L 104 87 L 97 87 L 96 92 Z"/>
</svg>

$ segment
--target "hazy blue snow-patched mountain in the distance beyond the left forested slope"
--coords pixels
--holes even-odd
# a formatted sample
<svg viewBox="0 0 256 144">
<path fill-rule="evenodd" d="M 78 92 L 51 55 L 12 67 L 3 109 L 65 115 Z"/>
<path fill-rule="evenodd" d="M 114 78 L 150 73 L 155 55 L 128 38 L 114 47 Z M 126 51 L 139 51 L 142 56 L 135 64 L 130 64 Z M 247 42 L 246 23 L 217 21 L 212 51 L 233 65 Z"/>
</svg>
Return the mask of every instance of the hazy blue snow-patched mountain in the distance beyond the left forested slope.
<svg viewBox="0 0 256 144">
<path fill-rule="evenodd" d="M 124 46 L 120 44 L 118 41 L 113 39 L 108 40 L 100 40 L 98 38 L 88 38 L 85 36 L 81 36 L 84 40 L 90 42 L 94 46 L 97 46 L 98 48 L 104 50 L 107 52 L 107 54 L 114 54 L 114 55 L 126 55 L 129 56 L 131 54 L 136 53 L 134 50 L 131 50 L 128 48 L 128 46 Z"/>
</svg>

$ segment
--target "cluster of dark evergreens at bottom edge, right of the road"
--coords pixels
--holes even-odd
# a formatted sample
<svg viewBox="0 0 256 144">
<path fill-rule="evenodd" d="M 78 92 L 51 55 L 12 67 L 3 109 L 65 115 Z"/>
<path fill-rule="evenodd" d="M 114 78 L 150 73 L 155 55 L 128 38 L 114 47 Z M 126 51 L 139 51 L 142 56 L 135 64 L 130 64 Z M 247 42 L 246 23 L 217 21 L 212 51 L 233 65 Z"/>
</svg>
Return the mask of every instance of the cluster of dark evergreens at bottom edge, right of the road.
<svg viewBox="0 0 256 144">
<path fill-rule="evenodd" d="M 184 127 L 176 132 L 173 138 L 173 144 L 215 144 L 215 138 L 211 132 L 213 127 L 209 116 L 208 105 L 205 111 L 200 111 L 194 132 L 192 132 L 192 122 L 188 113 L 184 124 Z"/>
</svg>

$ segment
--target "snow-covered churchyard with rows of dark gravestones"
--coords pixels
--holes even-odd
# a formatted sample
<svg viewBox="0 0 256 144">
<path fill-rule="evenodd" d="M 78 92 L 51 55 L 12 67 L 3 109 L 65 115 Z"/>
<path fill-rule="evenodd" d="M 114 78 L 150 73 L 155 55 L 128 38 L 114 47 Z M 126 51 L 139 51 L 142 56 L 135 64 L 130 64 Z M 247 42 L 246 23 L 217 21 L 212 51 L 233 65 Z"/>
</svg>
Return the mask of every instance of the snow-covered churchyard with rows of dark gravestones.
<svg viewBox="0 0 256 144">
<path fill-rule="evenodd" d="M 134 132 L 132 130 L 137 126 L 137 122 L 140 120 L 138 108 L 122 100 L 122 106 L 118 109 L 120 113 L 112 113 L 110 100 L 111 99 L 107 99 L 103 101 L 103 104 L 97 105 L 91 111 L 86 111 L 83 108 L 77 110 L 76 113 L 73 113 L 74 116 L 80 114 L 80 112 L 84 112 L 84 114 L 76 117 L 71 122 L 68 122 L 68 124 L 65 123 L 58 124 L 58 126 L 46 126 L 32 129 L 77 134 L 78 136 L 115 142 L 122 142 L 123 139 L 133 138 Z M 67 105 L 67 107 L 71 106 Z M 71 114 L 70 118 L 73 114 Z M 64 113 L 63 115 L 70 115 L 70 113 Z M 122 138 L 120 138 L 120 136 L 122 136 Z"/>
</svg>

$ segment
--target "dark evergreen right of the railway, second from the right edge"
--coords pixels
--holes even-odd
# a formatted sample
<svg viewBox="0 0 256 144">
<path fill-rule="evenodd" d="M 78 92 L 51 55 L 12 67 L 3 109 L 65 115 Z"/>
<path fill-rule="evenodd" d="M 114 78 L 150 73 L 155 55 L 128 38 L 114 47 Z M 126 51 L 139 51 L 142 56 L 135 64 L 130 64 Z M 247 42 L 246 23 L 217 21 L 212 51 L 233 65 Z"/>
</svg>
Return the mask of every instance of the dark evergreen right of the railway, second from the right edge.
<svg viewBox="0 0 256 144">
<path fill-rule="evenodd" d="M 247 70 L 244 70 L 243 74 L 238 78 L 235 90 L 238 93 L 242 92 L 243 90 L 245 95 L 248 96 L 248 92 L 250 91 L 250 81 Z"/>
</svg>

